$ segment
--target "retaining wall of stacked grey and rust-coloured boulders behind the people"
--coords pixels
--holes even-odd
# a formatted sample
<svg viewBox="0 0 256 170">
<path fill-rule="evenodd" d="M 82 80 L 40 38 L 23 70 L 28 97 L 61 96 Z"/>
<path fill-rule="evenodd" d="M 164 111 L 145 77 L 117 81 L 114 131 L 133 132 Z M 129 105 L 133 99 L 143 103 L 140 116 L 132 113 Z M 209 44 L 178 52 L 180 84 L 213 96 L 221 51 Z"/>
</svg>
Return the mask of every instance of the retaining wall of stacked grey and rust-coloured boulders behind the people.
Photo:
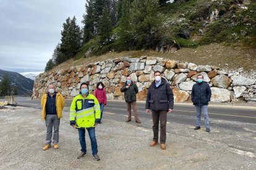
<svg viewBox="0 0 256 170">
<path fill-rule="evenodd" d="M 175 102 L 190 100 L 191 89 L 199 73 L 204 76 L 204 81 L 210 84 L 211 102 L 256 101 L 256 77 L 246 78 L 241 75 L 242 70 L 227 72 L 215 66 L 179 63 L 147 56 L 119 57 L 42 73 L 36 77 L 32 98 L 40 98 L 51 83 L 58 87 L 56 91 L 70 99 L 79 94 L 80 83 L 90 82 L 89 89 L 93 92 L 96 83 L 102 81 L 106 86 L 108 99 L 123 100 L 124 94 L 120 89 L 127 76 L 130 76 L 139 87 L 137 99 L 145 100 L 156 70 L 161 71 L 171 84 Z"/>
</svg>

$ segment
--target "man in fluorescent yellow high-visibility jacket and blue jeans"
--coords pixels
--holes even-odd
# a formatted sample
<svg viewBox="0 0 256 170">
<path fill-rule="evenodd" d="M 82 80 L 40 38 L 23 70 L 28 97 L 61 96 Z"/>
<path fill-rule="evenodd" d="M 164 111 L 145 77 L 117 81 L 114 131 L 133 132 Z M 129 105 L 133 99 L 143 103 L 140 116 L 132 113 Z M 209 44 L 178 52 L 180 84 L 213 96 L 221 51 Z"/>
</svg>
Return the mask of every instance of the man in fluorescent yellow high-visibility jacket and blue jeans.
<svg viewBox="0 0 256 170">
<path fill-rule="evenodd" d="M 95 126 L 100 122 L 100 104 L 94 95 L 89 94 L 88 87 L 87 83 L 81 84 L 80 94 L 75 96 L 71 103 L 69 120 L 70 126 L 77 128 L 79 131 L 81 153 L 77 159 L 87 155 L 85 143 L 85 129 L 87 129 L 91 140 L 93 158 L 99 161 Z"/>
</svg>

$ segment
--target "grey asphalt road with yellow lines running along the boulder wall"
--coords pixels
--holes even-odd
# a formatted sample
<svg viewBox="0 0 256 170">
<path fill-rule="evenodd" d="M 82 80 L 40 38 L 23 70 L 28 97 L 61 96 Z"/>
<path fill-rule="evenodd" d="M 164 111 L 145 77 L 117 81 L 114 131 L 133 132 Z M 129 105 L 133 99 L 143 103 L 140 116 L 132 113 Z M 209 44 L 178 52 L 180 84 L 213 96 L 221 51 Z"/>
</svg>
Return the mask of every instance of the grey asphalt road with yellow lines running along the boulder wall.
<svg viewBox="0 0 256 170">
<path fill-rule="evenodd" d="M 28 97 L 17 97 L 15 100 L 18 105 L 41 108 L 40 100 L 30 100 Z M 66 100 L 64 111 L 69 111 L 71 102 L 72 100 Z M 151 128 L 151 114 L 145 112 L 145 102 L 137 102 L 137 109 L 140 121 L 142 121 L 140 126 Z M 104 108 L 104 116 L 117 121 L 125 121 L 127 119 L 126 113 L 126 102 L 124 101 L 108 101 L 108 104 Z M 254 107 L 233 108 L 228 105 L 223 107 L 223 105 L 210 104 L 208 107 L 208 115 L 210 117 L 210 126 L 218 127 L 218 129 L 244 131 L 245 125 L 237 126 L 237 123 L 256 124 L 256 108 Z M 192 128 L 195 126 L 195 116 L 196 113 L 192 104 L 174 103 L 173 112 L 168 114 L 168 123 L 175 122 L 184 124 L 184 127 Z M 201 127 L 204 127 L 203 115 L 201 122 Z M 256 127 L 254 130 L 256 131 Z"/>
</svg>

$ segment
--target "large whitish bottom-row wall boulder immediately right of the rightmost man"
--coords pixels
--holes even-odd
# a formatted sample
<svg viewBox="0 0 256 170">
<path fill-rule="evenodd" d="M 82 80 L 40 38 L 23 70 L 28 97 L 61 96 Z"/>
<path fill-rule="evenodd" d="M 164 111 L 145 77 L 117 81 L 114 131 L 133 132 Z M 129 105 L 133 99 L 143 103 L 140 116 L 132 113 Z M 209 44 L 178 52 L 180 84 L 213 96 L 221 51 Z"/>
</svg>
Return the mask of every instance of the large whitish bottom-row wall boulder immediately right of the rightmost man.
<svg viewBox="0 0 256 170">
<path fill-rule="evenodd" d="M 227 89 L 211 87 L 211 102 L 230 102 L 231 92 Z"/>
</svg>

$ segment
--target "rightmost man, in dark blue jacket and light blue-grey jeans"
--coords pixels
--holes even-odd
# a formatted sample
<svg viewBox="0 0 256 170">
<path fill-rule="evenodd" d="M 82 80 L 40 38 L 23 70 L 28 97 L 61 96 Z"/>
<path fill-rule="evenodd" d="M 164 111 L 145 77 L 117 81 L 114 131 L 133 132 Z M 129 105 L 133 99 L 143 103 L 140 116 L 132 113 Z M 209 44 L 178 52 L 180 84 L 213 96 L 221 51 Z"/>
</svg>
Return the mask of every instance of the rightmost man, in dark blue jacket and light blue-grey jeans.
<svg viewBox="0 0 256 170">
<path fill-rule="evenodd" d="M 210 132 L 208 102 L 211 100 L 211 89 L 209 84 L 203 82 L 203 75 L 197 75 L 197 84 L 192 87 L 191 99 L 193 105 L 195 105 L 195 111 L 197 111 L 197 124 L 194 129 L 201 128 L 201 112 L 203 112 L 206 131 Z"/>
</svg>

